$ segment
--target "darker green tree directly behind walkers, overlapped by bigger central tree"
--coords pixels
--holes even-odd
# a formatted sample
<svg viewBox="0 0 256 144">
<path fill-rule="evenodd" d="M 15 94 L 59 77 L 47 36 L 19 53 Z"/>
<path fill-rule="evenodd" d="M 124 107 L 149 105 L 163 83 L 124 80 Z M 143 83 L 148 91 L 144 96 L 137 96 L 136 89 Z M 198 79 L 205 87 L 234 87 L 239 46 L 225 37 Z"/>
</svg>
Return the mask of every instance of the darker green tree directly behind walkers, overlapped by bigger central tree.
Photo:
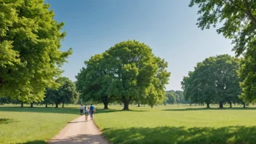
<svg viewBox="0 0 256 144">
<path fill-rule="evenodd" d="M 102 65 L 103 55 L 92 56 L 85 61 L 86 68 L 82 68 L 76 76 L 76 89 L 81 92 L 83 101 L 92 100 L 95 103 L 103 103 L 104 109 L 108 109 L 108 103 L 113 102 L 114 96 L 108 94 L 108 85 L 111 84 L 111 76 Z"/>
</svg>

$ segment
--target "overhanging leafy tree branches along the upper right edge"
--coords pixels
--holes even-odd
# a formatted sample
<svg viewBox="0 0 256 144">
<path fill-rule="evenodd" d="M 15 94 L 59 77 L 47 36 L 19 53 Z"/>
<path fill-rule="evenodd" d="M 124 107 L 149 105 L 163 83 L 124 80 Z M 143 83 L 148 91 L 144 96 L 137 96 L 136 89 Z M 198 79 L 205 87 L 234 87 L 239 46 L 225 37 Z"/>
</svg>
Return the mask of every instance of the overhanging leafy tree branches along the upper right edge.
<svg viewBox="0 0 256 144">
<path fill-rule="evenodd" d="M 217 33 L 233 40 L 237 56 L 244 55 L 239 70 L 241 97 L 249 102 L 255 101 L 256 0 L 191 0 L 189 6 L 195 4 L 199 7 L 199 28 L 204 30 L 221 23 Z"/>
</svg>

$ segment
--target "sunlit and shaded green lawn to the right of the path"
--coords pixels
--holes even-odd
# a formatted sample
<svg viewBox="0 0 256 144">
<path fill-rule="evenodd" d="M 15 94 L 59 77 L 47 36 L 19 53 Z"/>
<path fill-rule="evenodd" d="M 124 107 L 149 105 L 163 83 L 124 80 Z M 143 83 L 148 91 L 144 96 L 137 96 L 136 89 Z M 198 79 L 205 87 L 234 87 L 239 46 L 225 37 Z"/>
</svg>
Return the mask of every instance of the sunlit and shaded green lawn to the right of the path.
<svg viewBox="0 0 256 144">
<path fill-rule="evenodd" d="M 256 107 L 166 105 L 98 110 L 95 123 L 113 143 L 256 143 Z M 104 113 L 102 113 L 104 112 Z M 106 113 L 108 112 L 108 113 Z"/>
</svg>

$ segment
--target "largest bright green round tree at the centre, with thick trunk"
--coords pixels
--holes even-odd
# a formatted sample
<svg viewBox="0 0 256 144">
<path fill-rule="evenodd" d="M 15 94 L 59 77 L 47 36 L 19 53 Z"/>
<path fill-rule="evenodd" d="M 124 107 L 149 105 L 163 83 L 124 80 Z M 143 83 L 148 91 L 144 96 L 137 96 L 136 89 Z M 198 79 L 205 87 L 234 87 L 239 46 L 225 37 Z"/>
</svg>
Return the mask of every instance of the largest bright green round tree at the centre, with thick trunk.
<svg viewBox="0 0 256 144">
<path fill-rule="evenodd" d="M 170 73 L 167 63 L 155 57 L 150 47 L 139 41 L 123 41 L 108 49 L 103 57 L 104 68 L 111 73 L 108 95 L 121 100 L 124 110 L 129 110 L 129 103 L 143 94 L 151 106 L 164 100 L 164 84 Z"/>
</svg>

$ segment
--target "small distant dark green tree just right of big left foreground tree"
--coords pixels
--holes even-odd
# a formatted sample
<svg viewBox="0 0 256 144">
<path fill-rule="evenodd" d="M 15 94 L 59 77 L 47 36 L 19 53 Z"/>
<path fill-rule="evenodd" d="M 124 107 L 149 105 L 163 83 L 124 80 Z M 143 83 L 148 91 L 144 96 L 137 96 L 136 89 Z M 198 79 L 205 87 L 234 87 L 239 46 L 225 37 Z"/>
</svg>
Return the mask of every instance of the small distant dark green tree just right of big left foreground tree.
<svg viewBox="0 0 256 144">
<path fill-rule="evenodd" d="M 47 88 L 45 94 L 44 103 L 55 103 L 57 108 L 60 103 L 74 103 L 79 98 L 76 92 L 76 85 L 66 77 L 60 77 L 56 80 L 57 84 L 60 84 L 58 89 Z"/>
</svg>

